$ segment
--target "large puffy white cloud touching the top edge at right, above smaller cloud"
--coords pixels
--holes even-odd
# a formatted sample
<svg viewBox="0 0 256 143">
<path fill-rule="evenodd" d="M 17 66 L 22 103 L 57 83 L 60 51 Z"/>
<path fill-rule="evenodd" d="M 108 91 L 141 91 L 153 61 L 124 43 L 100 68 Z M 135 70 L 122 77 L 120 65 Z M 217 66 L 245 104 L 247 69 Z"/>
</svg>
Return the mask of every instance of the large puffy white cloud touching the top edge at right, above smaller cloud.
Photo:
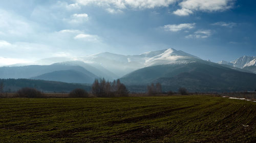
<svg viewBox="0 0 256 143">
<path fill-rule="evenodd" d="M 173 13 L 179 16 L 187 16 L 195 11 L 217 12 L 232 8 L 234 0 L 185 0 L 179 3 L 181 9 Z"/>
</svg>

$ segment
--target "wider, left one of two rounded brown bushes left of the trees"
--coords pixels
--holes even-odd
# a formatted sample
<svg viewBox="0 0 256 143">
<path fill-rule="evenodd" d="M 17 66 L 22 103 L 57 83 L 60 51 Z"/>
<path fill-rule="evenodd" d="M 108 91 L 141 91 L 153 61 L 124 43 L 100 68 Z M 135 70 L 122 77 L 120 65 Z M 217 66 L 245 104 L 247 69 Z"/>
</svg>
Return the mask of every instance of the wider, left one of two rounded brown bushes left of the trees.
<svg viewBox="0 0 256 143">
<path fill-rule="evenodd" d="M 41 98 L 43 97 L 43 94 L 32 88 L 23 88 L 17 91 L 18 97 L 26 97 L 26 98 Z"/>
</svg>

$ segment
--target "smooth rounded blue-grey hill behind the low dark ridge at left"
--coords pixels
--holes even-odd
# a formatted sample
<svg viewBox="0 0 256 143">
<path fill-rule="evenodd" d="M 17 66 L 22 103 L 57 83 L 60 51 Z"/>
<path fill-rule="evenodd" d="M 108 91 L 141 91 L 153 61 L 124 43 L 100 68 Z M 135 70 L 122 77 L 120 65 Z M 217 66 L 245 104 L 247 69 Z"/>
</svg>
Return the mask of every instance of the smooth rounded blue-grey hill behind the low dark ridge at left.
<svg viewBox="0 0 256 143">
<path fill-rule="evenodd" d="M 61 81 L 67 83 L 93 83 L 94 78 L 75 70 L 63 70 L 45 73 L 31 79 Z"/>
</svg>

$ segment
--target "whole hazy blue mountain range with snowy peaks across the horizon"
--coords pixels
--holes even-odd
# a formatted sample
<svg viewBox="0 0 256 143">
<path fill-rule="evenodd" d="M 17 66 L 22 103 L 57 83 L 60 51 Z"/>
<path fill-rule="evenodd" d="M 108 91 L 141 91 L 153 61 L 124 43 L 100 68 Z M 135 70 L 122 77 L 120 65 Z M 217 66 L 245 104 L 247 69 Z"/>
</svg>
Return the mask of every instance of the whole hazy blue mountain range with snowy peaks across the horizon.
<svg viewBox="0 0 256 143">
<path fill-rule="evenodd" d="M 80 58 L 42 59 L 33 65 L 0 68 L 0 78 L 30 78 L 70 83 L 92 83 L 94 78 L 120 80 L 126 85 L 160 82 L 165 89 L 243 91 L 256 89 L 256 58 L 243 56 L 219 64 L 175 49 L 138 55 L 110 52 Z M 254 72 L 254 73 L 253 73 Z"/>
</svg>

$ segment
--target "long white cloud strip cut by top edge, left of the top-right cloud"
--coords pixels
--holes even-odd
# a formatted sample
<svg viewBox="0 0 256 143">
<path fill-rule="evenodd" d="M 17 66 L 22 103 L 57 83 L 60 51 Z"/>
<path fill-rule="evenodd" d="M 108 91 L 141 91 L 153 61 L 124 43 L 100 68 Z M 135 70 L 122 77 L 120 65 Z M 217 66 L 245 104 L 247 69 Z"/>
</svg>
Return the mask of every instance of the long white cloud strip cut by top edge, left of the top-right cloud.
<svg viewBox="0 0 256 143">
<path fill-rule="evenodd" d="M 176 0 L 76 0 L 81 5 L 98 5 L 103 7 L 114 6 L 118 9 L 125 9 L 127 7 L 135 9 L 152 9 L 156 7 L 168 7 L 170 4 L 176 2 Z"/>
</svg>

